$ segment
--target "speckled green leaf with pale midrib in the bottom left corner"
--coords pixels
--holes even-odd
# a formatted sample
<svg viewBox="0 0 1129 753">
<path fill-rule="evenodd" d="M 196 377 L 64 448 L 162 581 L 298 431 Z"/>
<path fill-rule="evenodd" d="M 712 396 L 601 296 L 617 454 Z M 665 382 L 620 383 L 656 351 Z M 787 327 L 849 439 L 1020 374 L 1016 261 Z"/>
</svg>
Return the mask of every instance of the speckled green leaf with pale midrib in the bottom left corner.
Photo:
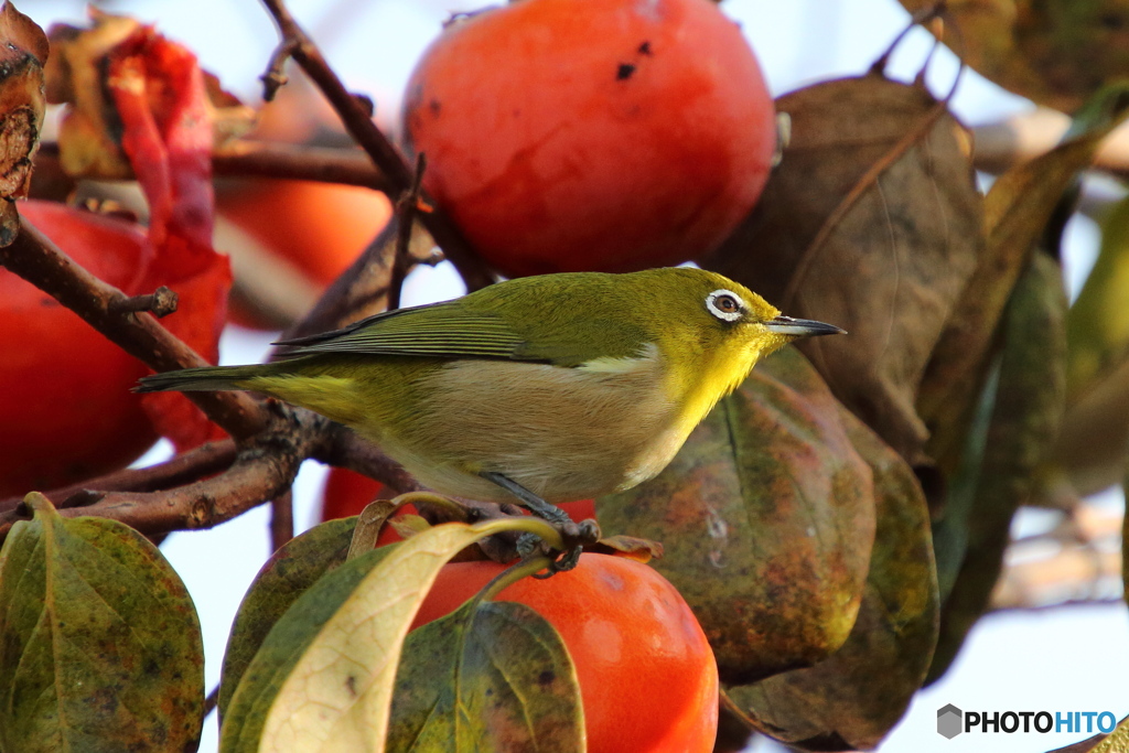
<svg viewBox="0 0 1129 753">
<path fill-rule="evenodd" d="M 0 750 L 195 750 L 203 643 L 184 584 L 137 531 L 26 501 L 35 517 L 0 550 Z"/>
</svg>

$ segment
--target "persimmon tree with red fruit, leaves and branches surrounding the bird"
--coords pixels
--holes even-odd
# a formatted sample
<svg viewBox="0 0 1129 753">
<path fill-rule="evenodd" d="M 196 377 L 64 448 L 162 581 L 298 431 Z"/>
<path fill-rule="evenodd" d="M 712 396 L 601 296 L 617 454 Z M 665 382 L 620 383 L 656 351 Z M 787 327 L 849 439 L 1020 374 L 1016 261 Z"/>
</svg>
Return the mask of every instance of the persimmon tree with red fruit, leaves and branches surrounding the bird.
<svg viewBox="0 0 1129 753">
<path fill-rule="evenodd" d="M 1078 42 L 1105 38 L 1115 9 L 1087 5 L 1054 37 L 1031 14 L 984 25 L 971 0 L 904 0 L 968 64 L 1069 115 L 1058 143 L 1023 155 L 977 148 L 952 93 L 933 94 L 924 72 L 892 80 L 889 53 L 780 96 L 773 119 L 755 59 L 706 0 L 663 0 L 638 27 L 602 3 L 605 34 L 574 26 L 566 0 L 518 3 L 456 19 L 445 40 L 467 49 L 440 41 L 453 56 L 421 64 L 412 159 L 281 0 L 264 0 L 280 43 L 261 113 L 154 27 L 91 11 L 87 28 L 44 34 L 5 5 L 0 751 L 195 750 L 217 706 L 222 751 L 723 751 L 753 733 L 869 750 L 992 608 L 1016 510 L 1074 509 L 1123 478 L 1129 204 L 1105 219 L 1071 307 L 1059 254 L 1078 175 L 1124 177 L 1099 151 L 1129 112 L 1114 82 L 1124 47 Z M 569 90 L 592 128 L 564 141 L 552 122 L 502 128 L 518 113 L 577 115 L 553 106 L 568 76 L 551 56 L 497 84 L 514 71 L 491 56 L 491 25 L 508 19 L 500 33 L 520 47 L 524 10 L 544 14 L 539 34 L 580 45 L 568 58 L 584 76 L 606 75 Z M 743 61 L 741 77 L 703 65 L 694 79 L 688 65 L 711 45 Z M 689 63 L 668 63 L 675 50 Z M 295 86 L 290 63 L 355 146 L 246 137 Z M 476 121 L 474 97 L 504 103 L 507 87 L 524 104 Z M 711 94 L 721 104 L 682 108 Z M 58 140 L 41 143 L 46 102 L 64 108 Z M 437 129 L 453 112 L 456 128 Z M 756 132 L 741 132 L 750 121 Z M 548 166 L 531 157 L 545 143 Z M 977 168 L 997 176 L 987 192 Z M 299 270 L 322 275 L 313 292 L 240 282 L 236 268 L 240 321 L 290 336 L 397 307 L 409 271 L 440 259 L 471 290 L 498 273 L 694 261 L 851 335 L 759 366 L 656 479 L 578 502 L 570 514 L 594 510 L 602 537 L 542 583 L 530 576 L 550 560 L 520 559 L 518 536 L 578 542 L 515 506 L 422 490 L 378 447 L 277 401 L 129 391 L 149 369 L 217 357 L 233 284 L 213 247 L 219 177 L 377 196 L 356 260 L 334 260 L 332 281 Z M 79 205 L 90 178 L 135 181 L 143 221 L 105 198 Z M 270 237 L 255 229 L 270 217 L 229 210 Z M 535 253 L 501 243 L 509 231 Z M 563 259 L 568 244 L 546 251 L 561 238 L 603 245 Z M 125 467 L 159 436 L 175 457 Z M 379 483 L 360 492 L 375 501 L 331 499 L 326 522 L 295 537 L 290 487 L 307 458 L 338 483 Z M 264 504 L 275 551 L 205 700 L 199 620 L 155 542 Z"/>
</svg>

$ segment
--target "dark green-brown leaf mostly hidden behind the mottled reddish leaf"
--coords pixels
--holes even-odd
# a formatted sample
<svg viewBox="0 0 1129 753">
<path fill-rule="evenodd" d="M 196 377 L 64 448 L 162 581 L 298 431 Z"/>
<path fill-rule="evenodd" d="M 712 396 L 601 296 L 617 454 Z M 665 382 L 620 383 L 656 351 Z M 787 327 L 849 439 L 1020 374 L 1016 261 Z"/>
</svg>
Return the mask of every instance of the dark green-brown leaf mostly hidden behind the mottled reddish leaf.
<svg viewBox="0 0 1129 753">
<path fill-rule="evenodd" d="M 809 751 L 870 750 L 921 686 L 937 642 L 929 511 L 909 466 L 859 421 L 851 441 L 875 473 L 878 528 L 858 619 L 813 667 L 726 689 L 746 723 Z"/>
</svg>

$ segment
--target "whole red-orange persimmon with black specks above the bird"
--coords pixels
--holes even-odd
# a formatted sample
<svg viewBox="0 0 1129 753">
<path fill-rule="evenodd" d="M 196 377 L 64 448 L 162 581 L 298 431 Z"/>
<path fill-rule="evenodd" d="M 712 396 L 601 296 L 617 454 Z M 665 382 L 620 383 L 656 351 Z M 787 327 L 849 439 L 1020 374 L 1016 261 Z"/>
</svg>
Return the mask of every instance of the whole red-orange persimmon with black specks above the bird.
<svg viewBox="0 0 1129 753">
<path fill-rule="evenodd" d="M 772 98 L 709 0 L 523 0 L 450 24 L 408 84 L 423 185 L 511 277 L 676 264 L 768 180 Z"/>
</svg>

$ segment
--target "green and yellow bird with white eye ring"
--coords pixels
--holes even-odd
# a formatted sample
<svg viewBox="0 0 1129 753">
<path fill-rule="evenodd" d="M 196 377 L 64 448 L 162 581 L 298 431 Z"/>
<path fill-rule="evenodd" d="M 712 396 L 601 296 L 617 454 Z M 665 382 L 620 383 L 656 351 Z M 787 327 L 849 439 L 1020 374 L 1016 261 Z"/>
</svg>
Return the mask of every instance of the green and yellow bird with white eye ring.
<svg viewBox="0 0 1129 753">
<path fill-rule="evenodd" d="M 139 391 L 273 395 L 352 427 L 435 491 L 537 508 L 655 476 L 759 358 L 841 332 L 700 269 L 546 274 Z"/>
</svg>

